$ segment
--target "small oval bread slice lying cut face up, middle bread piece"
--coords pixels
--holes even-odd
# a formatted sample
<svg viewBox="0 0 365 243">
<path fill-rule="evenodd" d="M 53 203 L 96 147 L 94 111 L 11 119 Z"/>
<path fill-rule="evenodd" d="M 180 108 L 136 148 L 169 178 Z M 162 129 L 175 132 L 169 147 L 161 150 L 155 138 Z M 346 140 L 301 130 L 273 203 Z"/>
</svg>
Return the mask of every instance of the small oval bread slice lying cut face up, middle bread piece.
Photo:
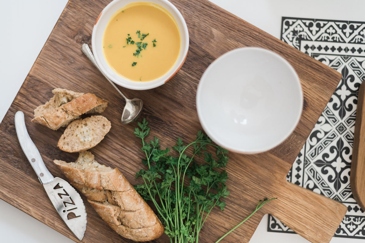
<svg viewBox="0 0 365 243">
<path fill-rule="evenodd" d="M 70 153 L 91 149 L 103 140 L 110 128 L 110 121 L 102 115 L 74 120 L 59 138 L 57 146 Z"/>
</svg>

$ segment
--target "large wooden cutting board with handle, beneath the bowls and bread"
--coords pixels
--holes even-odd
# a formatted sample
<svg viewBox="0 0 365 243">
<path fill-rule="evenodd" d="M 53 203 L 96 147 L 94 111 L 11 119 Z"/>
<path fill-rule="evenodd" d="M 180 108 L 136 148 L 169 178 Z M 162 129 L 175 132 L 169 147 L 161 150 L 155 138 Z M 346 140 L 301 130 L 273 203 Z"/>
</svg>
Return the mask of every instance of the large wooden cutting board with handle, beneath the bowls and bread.
<svg viewBox="0 0 365 243">
<path fill-rule="evenodd" d="M 103 115 L 111 121 L 112 128 L 91 152 L 101 164 L 118 167 L 132 184 L 140 183 L 135 179 L 135 173 L 143 167 L 140 143 L 133 134 L 137 124 L 121 124 L 124 100 L 80 49 L 82 43 L 91 43 L 93 24 L 109 1 L 88 1 L 88 4 L 81 0 L 69 1 L 0 125 L 1 199 L 76 242 L 78 240 L 57 215 L 20 148 L 14 114 L 18 110 L 24 111 L 29 134 L 49 171 L 65 178 L 52 161 L 74 161 L 77 154 L 57 148 L 64 129 L 53 131 L 30 122 L 33 109 L 48 101 L 53 96 L 51 90 L 56 87 L 91 92 L 107 99 L 109 106 Z M 299 125 L 283 144 L 261 154 L 230 153 L 227 185 L 231 194 L 226 200 L 227 206 L 224 212 L 218 208 L 212 211 L 200 233 L 200 242 L 215 242 L 249 215 L 265 197 L 278 199 L 266 204 L 223 242 L 248 242 L 266 213 L 276 216 L 312 242 L 329 242 L 346 207 L 288 183 L 285 177 L 341 74 L 206 0 L 172 0 L 172 3 L 183 14 L 189 29 L 190 48 L 185 64 L 161 87 L 146 91 L 122 89 L 127 97 L 143 99 L 145 106 L 140 119 L 149 121 L 151 134 L 160 138 L 162 148 L 173 146 L 178 137 L 185 142 L 194 140 L 201 129 L 195 107 L 199 79 L 213 60 L 234 48 L 257 46 L 284 56 L 297 71 L 304 93 Z M 265 68 L 264 64 L 262 68 Z M 110 230 L 93 208 L 85 204 L 88 225 L 82 242 L 131 242 Z M 167 241 L 164 235 L 154 242 Z"/>
</svg>

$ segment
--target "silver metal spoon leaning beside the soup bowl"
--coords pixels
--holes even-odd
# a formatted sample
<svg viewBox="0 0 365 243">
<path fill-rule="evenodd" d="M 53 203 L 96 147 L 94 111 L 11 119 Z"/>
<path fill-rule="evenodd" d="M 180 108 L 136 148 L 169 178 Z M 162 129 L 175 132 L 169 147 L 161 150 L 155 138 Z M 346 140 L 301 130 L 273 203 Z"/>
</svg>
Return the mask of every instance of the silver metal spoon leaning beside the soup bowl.
<svg viewBox="0 0 365 243">
<path fill-rule="evenodd" d="M 120 90 L 115 86 L 115 84 L 104 74 L 103 71 L 100 70 L 88 44 L 86 43 L 82 44 L 81 50 L 91 60 L 91 62 L 101 72 L 101 74 L 103 74 L 103 76 L 110 82 L 110 84 L 118 91 L 118 93 L 122 95 L 122 97 L 126 100 L 126 105 L 124 106 L 122 113 L 122 124 L 125 125 L 132 121 L 135 121 L 139 117 L 139 115 L 141 115 L 143 101 L 138 98 L 128 99 L 122 92 L 120 92 Z"/>
</svg>

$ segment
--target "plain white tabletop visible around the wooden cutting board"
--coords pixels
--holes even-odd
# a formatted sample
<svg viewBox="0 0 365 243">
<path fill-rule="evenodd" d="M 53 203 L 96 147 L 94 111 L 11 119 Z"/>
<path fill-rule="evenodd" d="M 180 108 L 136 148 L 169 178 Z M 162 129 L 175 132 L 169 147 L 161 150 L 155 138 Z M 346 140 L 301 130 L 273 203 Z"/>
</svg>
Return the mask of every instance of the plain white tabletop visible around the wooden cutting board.
<svg viewBox="0 0 365 243">
<path fill-rule="evenodd" d="M 276 38 L 280 38 L 282 16 L 365 21 L 363 0 L 211 0 L 211 2 Z M 0 0 L 1 120 L 66 3 L 67 0 Z M 245 227 L 245 224 L 241 227 Z M 299 235 L 267 232 L 266 228 L 267 215 L 262 219 L 250 243 L 308 242 Z M 0 200 L 0 237 L 1 242 L 9 243 L 73 242 L 3 200 Z M 345 242 L 358 243 L 364 240 L 349 238 L 331 240 L 331 243 Z"/>
</svg>

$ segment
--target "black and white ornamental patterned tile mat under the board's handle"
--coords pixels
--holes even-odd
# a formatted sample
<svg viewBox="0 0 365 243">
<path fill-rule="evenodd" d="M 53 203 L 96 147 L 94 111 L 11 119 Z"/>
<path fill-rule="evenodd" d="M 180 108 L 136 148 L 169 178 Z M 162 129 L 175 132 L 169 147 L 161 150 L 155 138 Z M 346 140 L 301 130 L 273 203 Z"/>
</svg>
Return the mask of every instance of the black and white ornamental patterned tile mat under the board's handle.
<svg viewBox="0 0 365 243">
<path fill-rule="evenodd" d="M 357 94 L 365 79 L 365 22 L 283 17 L 281 40 L 342 73 L 287 180 L 345 204 L 335 236 L 365 239 L 365 212 L 350 188 Z M 293 233 L 271 215 L 268 231 Z"/>
</svg>

